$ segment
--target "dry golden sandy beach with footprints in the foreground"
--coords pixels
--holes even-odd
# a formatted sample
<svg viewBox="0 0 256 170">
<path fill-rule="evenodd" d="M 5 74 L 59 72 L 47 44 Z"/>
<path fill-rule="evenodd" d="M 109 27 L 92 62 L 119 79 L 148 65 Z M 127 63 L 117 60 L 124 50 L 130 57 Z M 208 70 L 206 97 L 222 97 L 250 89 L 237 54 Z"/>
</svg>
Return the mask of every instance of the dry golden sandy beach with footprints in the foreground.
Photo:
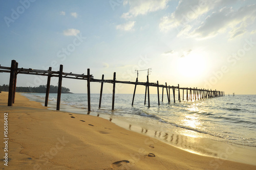
<svg viewBox="0 0 256 170">
<path fill-rule="evenodd" d="M 12 107 L 7 100 L 8 92 L 0 93 L 2 130 L 8 113 L 2 169 L 256 169 L 183 151 L 101 117 L 52 111 L 19 93 Z"/>
</svg>

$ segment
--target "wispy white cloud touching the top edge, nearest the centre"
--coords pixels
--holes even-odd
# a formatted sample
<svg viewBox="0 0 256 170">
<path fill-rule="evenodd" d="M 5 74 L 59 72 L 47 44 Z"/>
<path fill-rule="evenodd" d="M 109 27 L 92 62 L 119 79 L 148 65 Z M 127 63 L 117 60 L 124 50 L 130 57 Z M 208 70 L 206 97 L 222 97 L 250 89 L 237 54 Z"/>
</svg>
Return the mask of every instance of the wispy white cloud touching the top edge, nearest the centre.
<svg viewBox="0 0 256 170">
<path fill-rule="evenodd" d="M 149 12 L 162 10 L 167 7 L 168 1 L 169 0 L 125 0 L 123 5 L 125 6 L 129 4 L 130 10 L 123 15 L 136 17 L 138 15 L 145 15 Z"/>
</svg>

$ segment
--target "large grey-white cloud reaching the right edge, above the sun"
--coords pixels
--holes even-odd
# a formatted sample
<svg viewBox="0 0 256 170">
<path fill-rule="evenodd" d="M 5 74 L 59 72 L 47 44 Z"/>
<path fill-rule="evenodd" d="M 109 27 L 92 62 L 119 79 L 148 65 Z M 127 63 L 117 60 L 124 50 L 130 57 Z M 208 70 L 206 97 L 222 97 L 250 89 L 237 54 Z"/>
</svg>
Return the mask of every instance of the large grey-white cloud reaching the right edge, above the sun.
<svg viewBox="0 0 256 170">
<path fill-rule="evenodd" d="M 221 18 L 221 19 L 220 19 Z M 229 31 L 230 37 L 234 38 L 244 34 L 245 29 L 256 19 L 256 5 L 249 5 L 238 9 L 222 8 L 206 17 L 200 27 L 191 32 L 191 36 L 208 38 L 216 36 L 219 33 Z"/>
</svg>

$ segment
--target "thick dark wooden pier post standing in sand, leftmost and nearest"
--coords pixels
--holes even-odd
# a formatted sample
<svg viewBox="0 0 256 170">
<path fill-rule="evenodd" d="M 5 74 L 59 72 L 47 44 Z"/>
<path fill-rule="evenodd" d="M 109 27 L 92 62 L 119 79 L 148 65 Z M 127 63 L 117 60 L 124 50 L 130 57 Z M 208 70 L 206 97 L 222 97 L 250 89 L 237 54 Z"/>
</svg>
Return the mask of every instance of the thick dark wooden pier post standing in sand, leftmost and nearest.
<svg viewBox="0 0 256 170">
<path fill-rule="evenodd" d="M 12 103 L 13 103 L 15 67 L 16 67 L 16 61 L 12 60 L 11 71 L 10 71 L 9 93 L 8 93 L 8 106 L 12 106 Z"/>
</svg>

